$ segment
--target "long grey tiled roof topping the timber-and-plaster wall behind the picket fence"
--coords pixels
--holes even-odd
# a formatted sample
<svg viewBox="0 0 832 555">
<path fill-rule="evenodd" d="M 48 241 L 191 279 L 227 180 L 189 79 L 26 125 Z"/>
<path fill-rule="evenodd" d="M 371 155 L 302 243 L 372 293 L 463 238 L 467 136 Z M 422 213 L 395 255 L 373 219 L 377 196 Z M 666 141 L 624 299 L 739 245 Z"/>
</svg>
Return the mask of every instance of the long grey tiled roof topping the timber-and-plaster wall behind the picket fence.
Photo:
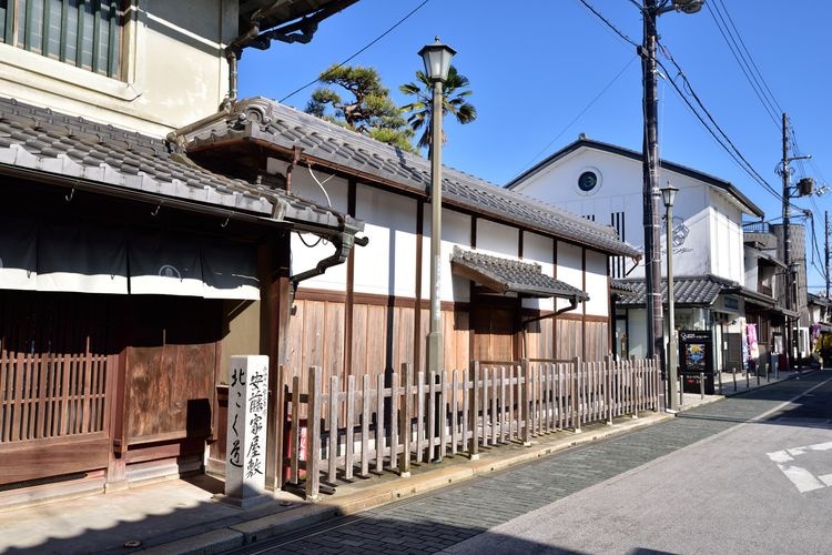
<svg viewBox="0 0 832 555">
<path fill-rule="evenodd" d="M 286 152 L 298 147 L 307 160 L 417 194 L 426 194 L 430 185 L 428 160 L 263 98 L 241 101 L 230 113 L 205 121 L 201 128 L 189 125 L 183 134 L 189 152 L 221 149 L 216 143 L 246 139 Z M 443 202 L 610 254 L 639 255 L 610 226 L 447 167 L 443 170 Z"/>
</svg>

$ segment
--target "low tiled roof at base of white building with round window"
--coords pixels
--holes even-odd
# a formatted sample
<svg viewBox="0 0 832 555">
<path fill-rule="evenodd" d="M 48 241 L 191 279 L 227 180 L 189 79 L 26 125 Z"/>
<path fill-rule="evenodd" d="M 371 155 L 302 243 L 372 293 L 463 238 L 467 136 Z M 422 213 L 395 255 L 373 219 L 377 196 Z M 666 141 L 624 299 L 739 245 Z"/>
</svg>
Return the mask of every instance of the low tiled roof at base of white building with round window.
<svg viewBox="0 0 832 555">
<path fill-rule="evenodd" d="M 673 279 L 673 297 L 677 305 L 710 306 L 723 289 L 735 285 L 713 275 L 677 276 Z M 647 304 L 645 280 L 615 280 L 610 289 L 619 293 L 620 299 L 616 302 L 619 306 L 645 306 Z M 661 280 L 661 302 L 668 302 L 667 280 Z"/>
</svg>

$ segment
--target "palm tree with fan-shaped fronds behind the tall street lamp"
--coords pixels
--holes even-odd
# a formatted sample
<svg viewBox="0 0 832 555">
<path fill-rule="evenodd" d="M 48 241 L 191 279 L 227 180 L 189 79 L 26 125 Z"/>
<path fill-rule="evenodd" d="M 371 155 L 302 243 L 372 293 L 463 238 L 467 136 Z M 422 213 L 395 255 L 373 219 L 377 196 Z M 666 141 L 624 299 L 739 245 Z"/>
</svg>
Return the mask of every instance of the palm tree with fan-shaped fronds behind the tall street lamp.
<svg viewBox="0 0 832 555">
<path fill-rule="evenodd" d="M 424 71 L 416 72 L 417 83 L 407 83 L 398 88 L 404 94 L 416 97 L 416 100 L 409 104 L 403 105 L 403 112 L 410 112 L 407 123 L 414 132 L 424 128 L 417 147 L 419 149 L 430 148 L 430 130 L 433 128 L 433 98 L 434 84 L 427 78 Z M 443 85 L 443 117 L 448 113 L 453 114 L 461 124 L 470 123 L 477 119 L 477 109 L 467 100 L 473 93 L 470 90 L 463 90 L 468 87 L 468 78 L 458 73 L 451 64 L 448 69 L 448 79 Z M 442 142 L 445 142 L 445 131 L 443 130 Z"/>
</svg>

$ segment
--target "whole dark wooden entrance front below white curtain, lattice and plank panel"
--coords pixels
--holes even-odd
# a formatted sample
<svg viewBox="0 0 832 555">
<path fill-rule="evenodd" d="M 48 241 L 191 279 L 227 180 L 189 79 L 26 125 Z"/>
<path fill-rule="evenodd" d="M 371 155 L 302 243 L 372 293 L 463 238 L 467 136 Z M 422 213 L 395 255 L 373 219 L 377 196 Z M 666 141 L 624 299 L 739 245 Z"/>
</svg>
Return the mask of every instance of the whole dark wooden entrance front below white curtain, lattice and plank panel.
<svg viewBox="0 0 832 555">
<path fill-rule="evenodd" d="M 221 322 L 219 300 L 0 291 L 0 485 L 200 470 Z"/>
</svg>

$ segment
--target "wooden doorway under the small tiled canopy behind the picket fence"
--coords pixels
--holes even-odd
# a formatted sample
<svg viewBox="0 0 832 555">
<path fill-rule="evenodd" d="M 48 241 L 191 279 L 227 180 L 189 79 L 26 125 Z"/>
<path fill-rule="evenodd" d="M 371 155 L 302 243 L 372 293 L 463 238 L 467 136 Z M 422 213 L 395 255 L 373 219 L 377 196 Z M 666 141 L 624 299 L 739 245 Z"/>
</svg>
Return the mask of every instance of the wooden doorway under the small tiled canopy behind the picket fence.
<svg viewBox="0 0 832 555">
<path fill-rule="evenodd" d="M 520 300 L 488 294 L 471 302 L 474 359 L 516 361 L 519 359 L 518 319 Z"/>
</svg>

